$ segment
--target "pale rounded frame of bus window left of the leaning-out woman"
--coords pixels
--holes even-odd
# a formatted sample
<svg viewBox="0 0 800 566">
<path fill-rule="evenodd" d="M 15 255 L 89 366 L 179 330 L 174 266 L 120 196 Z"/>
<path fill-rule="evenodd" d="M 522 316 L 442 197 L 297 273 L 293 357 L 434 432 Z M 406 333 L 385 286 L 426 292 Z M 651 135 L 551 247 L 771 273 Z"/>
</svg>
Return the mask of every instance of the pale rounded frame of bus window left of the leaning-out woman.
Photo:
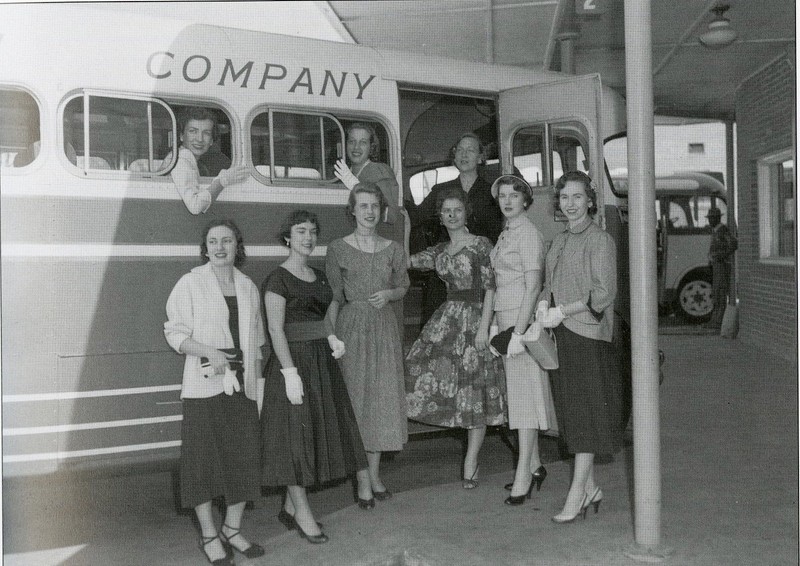
<svg viewBox="0 0 800 566">
<path fill-rule="evenodd" d="M 173 140 L 172 140 L 172 158 L 170 163 L 167 167 L 163 170 L 158 172 L 150 172 L 150 171 L 130 171 L 128 169 L 94 169 L 89 166 L 88 160 L 84 160 L 83 167 L 77 165 L 77 163 L 72 163 L 67 158 L 67 155 L 64 153 L 63 146 L 64 142 L 66 141 L 65 131 L 64 131 L 64 114 L 66 112 L 67 106 L 76 99 L 83 99 L 83 154 L 89 155 L 91 157 L 91 145 L 90 145 L 90 129 L 91 129 L 91 97 L 102 97 L 102 98 L 111 98 L 115 100 L 137 100 L 141 102 L 147 102 L 148 105 L 148 159 L 152 162 L 155 158 L 153 157 L 153 123 L 152 123 L 152 104 L 156 103 L 166 109 L 172 126 L 173 132 Z M 175 166 L 178 160 L 178 126 L 177 126 L 177 118 L 175 116 L 175 112 L 172 110 L 170 104 L 158 97 L 152 95 L 143 95 L 143 94 L 136 94 L 136 93 L 128 93 L 128 92 L 117 92 L 117 91 L 108 91 L 102 89 L 93 89 L 93 88 L 81 88 L 74 90 L 72 92 L 67 93 L 64 98 L 62 99 L 61 103 L 58 107 L 58 120 L 56 122 L 56 136 L 59 140 L 59 147 L 60 150 L 57 151 L 58 157 L 61 162 L 64 164 L 66 169 L 70 171 L 72 174 L 81 177 L 81 178 L 114 178 L 114 179 L 130 179 L 130 178 L 141 178 L 141 179 L 153 179 L 159 177 L 165 177 L 169 174 L 172 168 Z"/>
</svg>

